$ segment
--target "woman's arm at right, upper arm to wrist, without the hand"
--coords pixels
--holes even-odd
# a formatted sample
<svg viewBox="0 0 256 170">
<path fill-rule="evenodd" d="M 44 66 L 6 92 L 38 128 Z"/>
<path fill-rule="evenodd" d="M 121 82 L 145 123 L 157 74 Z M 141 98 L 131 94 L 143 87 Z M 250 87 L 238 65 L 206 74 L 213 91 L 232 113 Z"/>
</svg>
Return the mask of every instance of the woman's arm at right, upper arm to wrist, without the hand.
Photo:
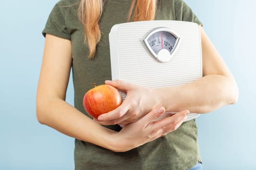
<svg viewBox="0 0 256 170">
<path fill-rule="evenodd" d="M 184 108 L 209 113 L 238 99 L 236 81 L 202 27 L 203 77 L 186 85 L 158 89 L 161 104 L 170 111 Z"/>
</svg>

